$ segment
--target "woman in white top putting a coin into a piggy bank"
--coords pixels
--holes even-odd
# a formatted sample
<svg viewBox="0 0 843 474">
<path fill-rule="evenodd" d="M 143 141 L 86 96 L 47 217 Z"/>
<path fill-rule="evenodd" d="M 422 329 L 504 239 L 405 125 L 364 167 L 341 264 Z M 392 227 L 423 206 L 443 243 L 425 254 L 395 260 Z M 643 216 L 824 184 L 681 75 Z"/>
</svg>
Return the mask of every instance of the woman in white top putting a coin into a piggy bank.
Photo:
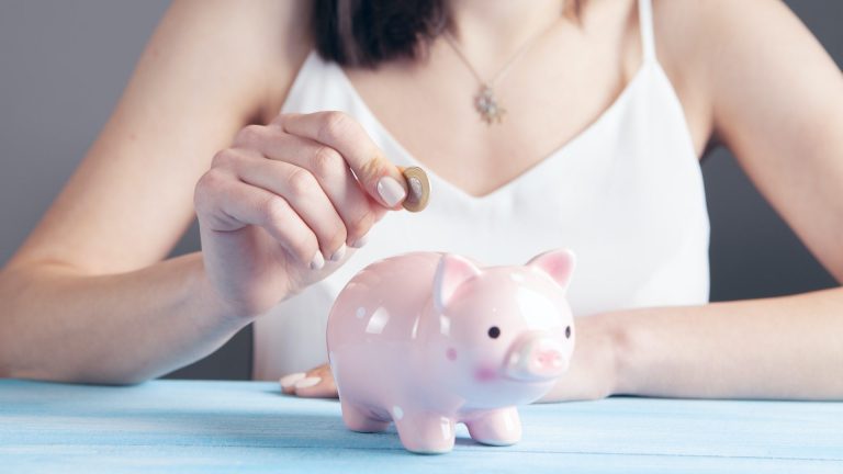
<svg viewBox="0 0 843 474">
<path fill-rule="evenodd" d="M 578 346 L 548 400 L 843 397 L 843 290 L 707 304 L 711 144 L 843 278 L 843 81 L 784 4 L 393 3 L 175 2 L 0 275 L 0 375 L 143 381 L 255 321 L 278 377 L 325 361 L 374 259 L 569 247 Z M 162 260 L 194 210 L 202 252 Z M 336 394 L 324 366 L 284 385 Z"/>
</svg>

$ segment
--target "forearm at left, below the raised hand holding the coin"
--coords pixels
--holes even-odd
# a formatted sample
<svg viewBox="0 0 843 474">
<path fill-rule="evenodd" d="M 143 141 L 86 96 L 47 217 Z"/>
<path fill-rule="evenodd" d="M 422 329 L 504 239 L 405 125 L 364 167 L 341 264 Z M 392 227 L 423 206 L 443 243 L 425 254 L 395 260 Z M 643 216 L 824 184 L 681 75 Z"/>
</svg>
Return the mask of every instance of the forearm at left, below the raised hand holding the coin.
<svg viewBox="0 0 843 474">
<path fill-rule="evenodd" d="M 216 303 L 200 253 L 114 275 L 7 269 L 0 301 L 0 376 L 143 381 L 202 358 L 248 323 Z"/>
</svg>

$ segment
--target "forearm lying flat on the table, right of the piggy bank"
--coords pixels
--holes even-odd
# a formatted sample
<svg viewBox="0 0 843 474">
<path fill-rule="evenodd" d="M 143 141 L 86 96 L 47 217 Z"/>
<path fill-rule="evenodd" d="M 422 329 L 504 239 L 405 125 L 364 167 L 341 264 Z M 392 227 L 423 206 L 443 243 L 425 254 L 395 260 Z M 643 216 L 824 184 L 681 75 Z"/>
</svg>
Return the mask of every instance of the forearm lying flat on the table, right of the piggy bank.
<svg viewBox="0 0 843 474">
<path fill-rule="evenodd" d="M 843 398 L 843 289 L 607 316 L 618 394 Z"/>
</svg>

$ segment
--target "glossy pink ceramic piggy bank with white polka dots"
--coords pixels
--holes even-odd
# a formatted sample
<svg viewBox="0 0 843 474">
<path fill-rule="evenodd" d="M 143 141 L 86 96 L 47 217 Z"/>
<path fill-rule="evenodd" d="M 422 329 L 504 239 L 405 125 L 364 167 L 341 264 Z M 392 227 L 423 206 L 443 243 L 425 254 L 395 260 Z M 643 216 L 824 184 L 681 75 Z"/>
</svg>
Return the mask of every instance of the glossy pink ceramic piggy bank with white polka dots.
<svg viewBox="0 0 843 474">
<path fill-rule="evenodd" d="M 346 426 L 378 432 L 394 421 L 418 453 L 453 449 L 457 422 L 483 444 L 517 442 L 516 406 L 544 395 L 569 365 L 573 269 L 573 253 L 554 250 L 488 268 L 415 252 L 360 271 L 327 328 Z"/>
</svg>

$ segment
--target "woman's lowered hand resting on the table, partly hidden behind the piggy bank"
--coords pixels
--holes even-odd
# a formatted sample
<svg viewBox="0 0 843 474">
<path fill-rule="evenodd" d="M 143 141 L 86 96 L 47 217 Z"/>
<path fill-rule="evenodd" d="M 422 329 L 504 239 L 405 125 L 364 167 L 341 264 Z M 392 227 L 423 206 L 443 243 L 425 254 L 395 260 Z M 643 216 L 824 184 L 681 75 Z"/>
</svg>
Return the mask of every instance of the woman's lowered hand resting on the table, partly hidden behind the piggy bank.
<svg viewBox="0 0 843 474">
<path fill-rule="evenodd" d="M 611 320 L 603 315 L 576 319 L 576 347 L 571 368 L 557 385 L 538 403 L 605 398 L 618 386 L 617 340 Z M 306 373 L 281 377 L 281 390 L 288 395 L 336 398 L 337 385 L 327 364 Z"/>
</svg>

